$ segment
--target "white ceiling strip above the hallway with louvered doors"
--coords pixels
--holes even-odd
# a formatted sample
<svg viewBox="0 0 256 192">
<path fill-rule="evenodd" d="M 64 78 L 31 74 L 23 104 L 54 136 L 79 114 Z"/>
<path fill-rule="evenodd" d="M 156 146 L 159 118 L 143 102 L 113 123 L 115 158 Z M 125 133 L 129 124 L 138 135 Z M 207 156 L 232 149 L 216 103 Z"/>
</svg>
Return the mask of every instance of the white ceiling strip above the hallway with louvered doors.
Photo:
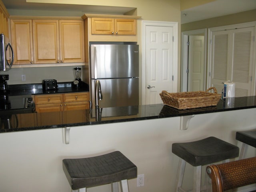
<svg viewBox="0 0 256 192">
<path fill-rule="evenodd" d="M 181 12 L 181 23 L 256 9 L 256 0 L 216 0 Z"/>
</svg>

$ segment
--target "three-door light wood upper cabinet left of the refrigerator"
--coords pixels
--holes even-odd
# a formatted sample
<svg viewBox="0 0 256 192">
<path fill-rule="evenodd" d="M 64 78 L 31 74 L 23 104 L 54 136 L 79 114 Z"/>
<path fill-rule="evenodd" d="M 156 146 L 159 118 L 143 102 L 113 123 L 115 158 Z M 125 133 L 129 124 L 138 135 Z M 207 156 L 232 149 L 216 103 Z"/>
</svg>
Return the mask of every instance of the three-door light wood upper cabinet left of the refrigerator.
<svg viewBox="0 0 256 192">
<path fill-rule="evenodd" d="M 84 64 L 84 21 L 82 19 L 11 18 L 14 65 Z"/>
</svg>

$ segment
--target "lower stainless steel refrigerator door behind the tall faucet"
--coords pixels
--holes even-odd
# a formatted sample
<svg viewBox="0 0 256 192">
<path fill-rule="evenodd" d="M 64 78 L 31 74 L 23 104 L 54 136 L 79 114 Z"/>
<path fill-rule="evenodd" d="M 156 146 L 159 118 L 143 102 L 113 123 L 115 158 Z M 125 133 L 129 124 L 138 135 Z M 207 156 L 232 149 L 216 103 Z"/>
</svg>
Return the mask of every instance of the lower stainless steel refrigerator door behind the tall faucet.
<svg viewBox="0 0 256 192">
<path fill-rule="evenodd" d="M 92 80 L 91 99 L 95 108 L 95 82 Z M 100 80 L 102 100 L 99 107 L 136 106 L 139 104 L 139 78 Z"/>
</svg>

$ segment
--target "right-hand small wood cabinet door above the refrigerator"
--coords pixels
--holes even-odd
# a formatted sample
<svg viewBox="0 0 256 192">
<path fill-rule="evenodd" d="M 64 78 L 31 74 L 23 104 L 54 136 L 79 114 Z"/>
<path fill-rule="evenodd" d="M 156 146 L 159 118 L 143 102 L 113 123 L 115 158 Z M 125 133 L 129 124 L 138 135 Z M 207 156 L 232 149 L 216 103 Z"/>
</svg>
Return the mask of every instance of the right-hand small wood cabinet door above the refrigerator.
<svg viewBox="0 0 256 192">
<path fill-rule="evenodd" d="M 115 19 L 115 34 L 117 35 L 136 35 L 135 19 Z"/>
</svg>

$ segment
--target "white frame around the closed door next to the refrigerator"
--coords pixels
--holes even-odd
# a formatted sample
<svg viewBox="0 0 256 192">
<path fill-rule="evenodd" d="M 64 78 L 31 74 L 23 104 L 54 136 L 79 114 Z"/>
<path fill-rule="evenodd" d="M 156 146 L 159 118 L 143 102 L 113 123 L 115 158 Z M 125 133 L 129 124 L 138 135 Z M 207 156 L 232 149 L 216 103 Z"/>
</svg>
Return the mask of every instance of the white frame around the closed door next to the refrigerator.
<svg viewBox="0 0 256 192">
<path fill-rule="evenodd" d="M 173 28 L 173 92 L 177 92 L 178 89 L 178 22 L 142 20 L 142 105 L 146 104 L 146 26 Z"/>
</svg>

